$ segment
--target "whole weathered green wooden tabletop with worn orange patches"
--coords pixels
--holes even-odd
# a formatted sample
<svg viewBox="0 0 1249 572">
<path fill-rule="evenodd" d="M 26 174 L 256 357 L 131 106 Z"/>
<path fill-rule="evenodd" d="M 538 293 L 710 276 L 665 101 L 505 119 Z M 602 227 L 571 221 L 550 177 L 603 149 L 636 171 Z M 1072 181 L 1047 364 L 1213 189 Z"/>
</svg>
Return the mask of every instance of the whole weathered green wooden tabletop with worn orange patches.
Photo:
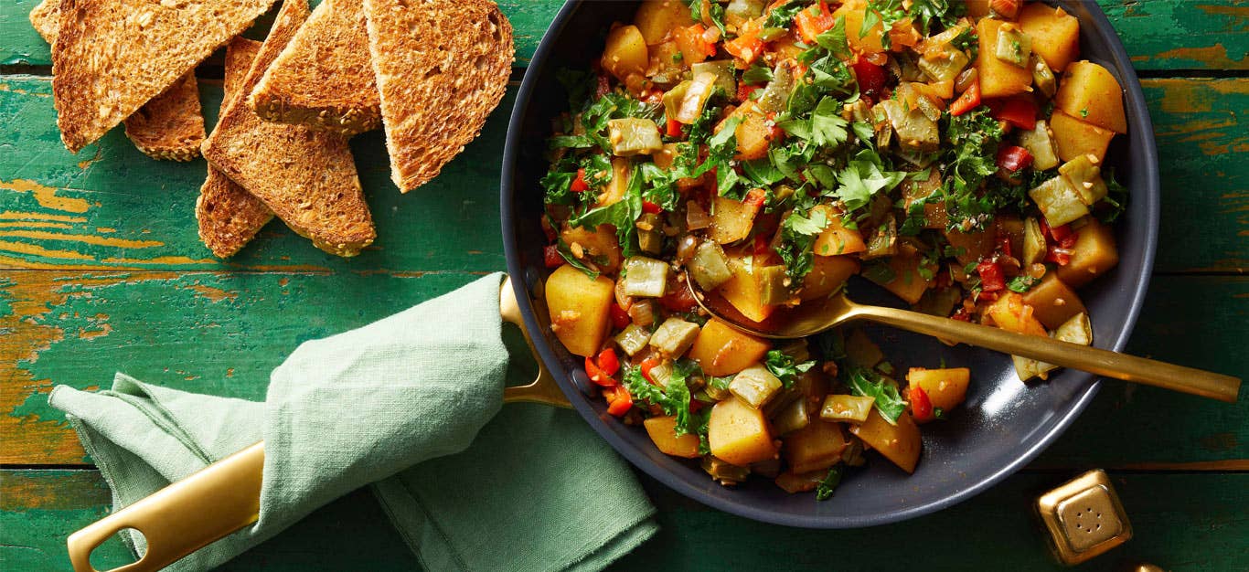
<svg viewBox="0 0 1249 572">
<path fill-rule="evenodd" d="M 65 536 L 107 512 L 109 492 L 46 405 L 56 383 L 107 385 L 116 370 L 190 391 L 262 398 L 300 342 L 363 325 L 505 266 L 498 157 L 508 97 L 482 136 L 426 187 L 401 196 L 378 134 L 352 140 L 377 244 L 328 256 L 272 224 L 235 259 L 196 236 L 205 164 L 147 159 L 115 130 L 71 155 L 55 126 L 36 0 L 0 4 L 0 570 L 67 571 Z M 560 0 L 500 2 L 523 66 Z M 1249 371 L 1249 5 L 1100 0 L 1142 75 L 1162 159 L 1163 220 L 1149 297 L 1128 350 Z M 200 75 L 215 117 L 220 69 Z M 447 236 L 455 236 L 448 241 Z M 1050 570 L 1029 501 L 1075 473 L 1109 471 L 1135 528 L 1085 565 L 1249 568 L 1249 416 L 1225 405 L 1108 382 L 1043 456 L 947 511 L 858 531 L 806 531 L 728 516 L 642 476 L 661 532 L 618 570 Z M 502 516 L 501 517 L 507 517 Z M 226 570 L 418 568 L 352 493 Z M 97 567 L 129 562 L 119 541 Z"/>
</svg>

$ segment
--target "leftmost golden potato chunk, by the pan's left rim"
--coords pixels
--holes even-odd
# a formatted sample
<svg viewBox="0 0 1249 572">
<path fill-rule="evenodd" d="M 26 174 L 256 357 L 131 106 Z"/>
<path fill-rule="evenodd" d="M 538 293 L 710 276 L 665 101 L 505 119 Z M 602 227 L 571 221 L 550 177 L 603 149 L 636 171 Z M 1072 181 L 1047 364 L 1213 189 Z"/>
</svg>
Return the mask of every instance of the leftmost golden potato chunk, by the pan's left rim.
<svg viewBox="0 0 1249 572">
<path fill-rule="evenodd" d="M 563 265 L 547 279 L 546 301 L 551 330 L 570 352 L 592 356 L 607 336 L 616 282 L 606 276 L 591 280 L 585 272 Z"/>
</svg>

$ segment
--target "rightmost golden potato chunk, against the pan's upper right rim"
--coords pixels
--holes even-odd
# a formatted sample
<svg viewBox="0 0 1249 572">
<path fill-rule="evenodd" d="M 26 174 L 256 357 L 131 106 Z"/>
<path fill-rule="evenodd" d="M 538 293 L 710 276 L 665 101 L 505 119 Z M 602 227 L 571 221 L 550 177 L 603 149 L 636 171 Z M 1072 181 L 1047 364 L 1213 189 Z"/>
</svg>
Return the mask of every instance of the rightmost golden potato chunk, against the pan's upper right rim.
<svg viewBox="0 0 1249 572">
<path fill-rule="evenodd" d="M 1117 134 L 1128 132 L 1123 87 L 1109 70 L 1092 61 L 1077 61 L 1067 67 L 1054 105 L 1080 121 Z"/>
</svg>

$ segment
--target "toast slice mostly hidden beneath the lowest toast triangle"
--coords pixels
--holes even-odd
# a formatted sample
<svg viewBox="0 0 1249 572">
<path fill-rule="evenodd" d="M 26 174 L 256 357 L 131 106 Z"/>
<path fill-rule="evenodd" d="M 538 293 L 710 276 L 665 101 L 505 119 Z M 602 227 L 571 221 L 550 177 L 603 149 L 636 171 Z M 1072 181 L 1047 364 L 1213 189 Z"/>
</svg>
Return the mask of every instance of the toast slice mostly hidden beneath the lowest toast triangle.
<svg viewBox="0 0 1249 572">
<path fill-rule="evenodd" d="M 239 97 L 239 86 L 259 51 L 259 41 L 244 37 L 236 37 L 227 45 L 222 111 Z M 195 201 L 195 220 L 200 225 L 200 240 L 214 255 L 221 259 L 234 256 L 272 219 L 274 211 L 260 199 L 251 196 L 224 172 L 209 165 L 209 176 L 204 180 L 200 197 Z"/>
</svg>

